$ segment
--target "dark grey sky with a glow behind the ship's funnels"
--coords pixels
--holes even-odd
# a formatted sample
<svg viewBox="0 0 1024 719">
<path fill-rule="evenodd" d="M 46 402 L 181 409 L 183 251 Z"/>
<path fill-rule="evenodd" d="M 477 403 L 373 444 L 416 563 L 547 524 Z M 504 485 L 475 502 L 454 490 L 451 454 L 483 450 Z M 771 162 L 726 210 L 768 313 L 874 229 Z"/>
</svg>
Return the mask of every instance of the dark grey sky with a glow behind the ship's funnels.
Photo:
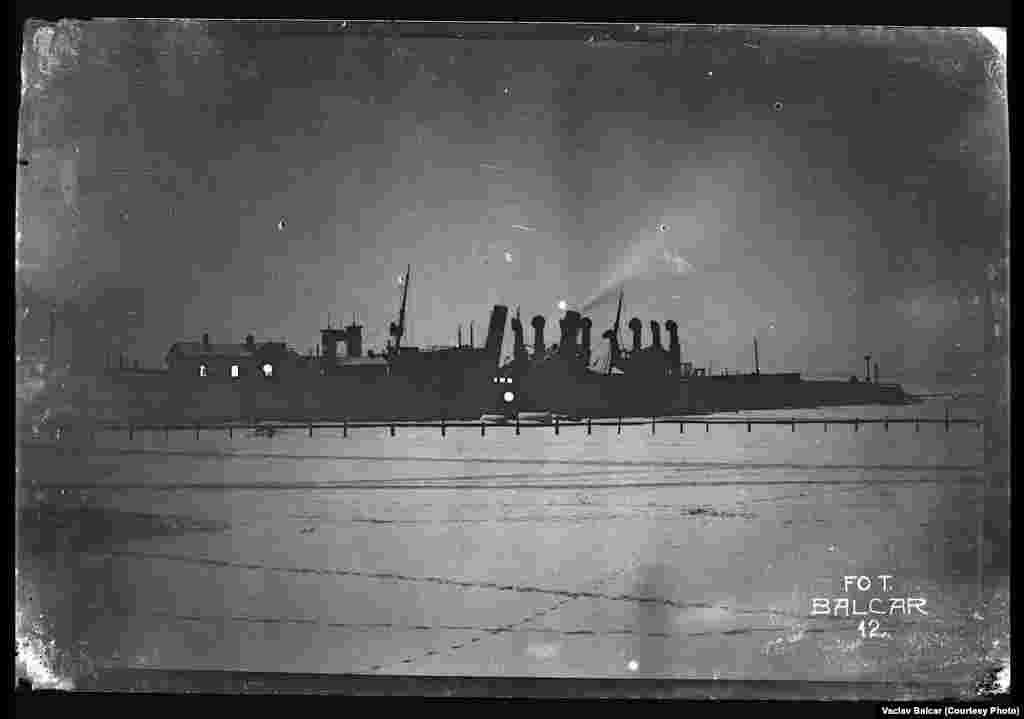
<svg viewBox="0 0 1024 719">
<path fill-rule="evenodd" d="M 305 349 L 328 312 L 383 346 L 407 263 L 416 344 L 479 341 L 497 302 L 550 337 L 597 297 L 603 328 L 625 280 L 698 366 L 746 369 L 755 334 L 765 370 L 980 349 L 1009 155 L 977 31 L 427 29 L 30 25 L 26 277 L 140 288 L 144 364 L 203 332 Z"/>
</svg>

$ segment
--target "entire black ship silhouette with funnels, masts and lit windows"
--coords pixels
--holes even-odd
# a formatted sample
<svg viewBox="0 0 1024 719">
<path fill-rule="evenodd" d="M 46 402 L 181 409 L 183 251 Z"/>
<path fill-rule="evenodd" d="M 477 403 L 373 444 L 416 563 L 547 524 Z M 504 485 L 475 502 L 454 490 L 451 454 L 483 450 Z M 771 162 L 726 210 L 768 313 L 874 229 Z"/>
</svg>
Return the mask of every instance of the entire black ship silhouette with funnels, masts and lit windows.
<svg viewBox="0 0 1024 719">
<path fill-rule="evenodd" d="M 807 381 L 797 373 L 711 376 L 682 362 L 678 325 L 632 319 L 631 348 L 618 340 L 623 295 L 613 326 L 601 338 L 606 351 L 592 357 L 593 323 L 575 310 L 559 321 L 560 339 L 545 345 L 543 316 L 531 320 L 532 350 L 518 310 L 511 320 L 513 356 L 501 364 L 509 310 L 495 305 L 482 347 L 421 348 L 402 343 L 411 268 L 407 268 L 396 322 L 381 352 L 364 351 L 362 327 L 321 330 L 316 352 L 299 354 L 283 342 L 178 342 L 166 370 L 111 369 L 78 386 L 76 414 L 135 422 L 239 420 L 379 421 L 565 417 L 652 417 L 723 411 L 814 408 L 826 405 L 905 404 L 899 385 L 851 378 Z M 339 353 L 339 345 L 345 353 Z"/>
</svg>

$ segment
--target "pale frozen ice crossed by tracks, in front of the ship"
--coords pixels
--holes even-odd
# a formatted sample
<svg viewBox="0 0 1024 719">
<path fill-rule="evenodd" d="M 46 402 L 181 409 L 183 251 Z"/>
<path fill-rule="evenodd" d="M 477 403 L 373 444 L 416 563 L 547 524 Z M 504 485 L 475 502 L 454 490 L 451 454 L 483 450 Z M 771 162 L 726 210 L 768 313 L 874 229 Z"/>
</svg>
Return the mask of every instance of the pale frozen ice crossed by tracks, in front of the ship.
<svg viewBox="0 0 1024 719">
<path fill-rule="evenodd" d="M 19 579 L 98 666 L 965 678 L 972 632 L 1009 641 L 1005 611 L 970 619 L 980 445 L 906 425 L 106 434 L 23 452 L 23 504 L 108 518 L 23 550 Z M 811 615 L 856 574 L 929 616 L 879 639 Z"/>
</svg>

